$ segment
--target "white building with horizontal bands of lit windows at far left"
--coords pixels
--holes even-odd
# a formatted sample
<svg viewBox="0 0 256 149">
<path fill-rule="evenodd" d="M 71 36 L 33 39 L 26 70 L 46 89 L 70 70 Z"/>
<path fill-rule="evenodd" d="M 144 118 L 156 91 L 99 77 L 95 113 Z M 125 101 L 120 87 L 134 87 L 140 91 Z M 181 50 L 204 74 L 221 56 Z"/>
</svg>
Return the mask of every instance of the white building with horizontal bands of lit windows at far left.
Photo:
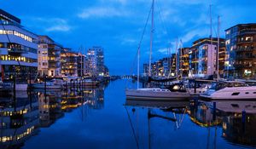
<svg viewBox="0 0 256 149">
<path fill-rule="evenodd" d="M 0 9 L 0 72 L 3 81 L 25 82 L 37 75 L 38 36 L 27 31 L 20 19 Z"/>
</svg>

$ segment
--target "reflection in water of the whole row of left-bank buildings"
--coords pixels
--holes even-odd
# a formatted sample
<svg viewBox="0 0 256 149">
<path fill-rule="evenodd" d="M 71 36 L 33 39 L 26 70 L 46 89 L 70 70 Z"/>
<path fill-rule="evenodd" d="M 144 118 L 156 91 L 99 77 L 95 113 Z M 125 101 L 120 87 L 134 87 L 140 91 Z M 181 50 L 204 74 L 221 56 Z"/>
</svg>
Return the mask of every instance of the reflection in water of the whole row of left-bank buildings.
<svg viewBox="0 0 256 149">
<path fill-rule="evenodd" d="M 65 112 L 82 107 L 82 119 L 88 114 L 84 109 L 104 107 L 104 88 L 86 90 L 46 91 L 37 90 L 31 95 L 16 92 L 0 100 L 0 148 L 20 148 L 40 128 L 47 128 Z"/>
</svg>

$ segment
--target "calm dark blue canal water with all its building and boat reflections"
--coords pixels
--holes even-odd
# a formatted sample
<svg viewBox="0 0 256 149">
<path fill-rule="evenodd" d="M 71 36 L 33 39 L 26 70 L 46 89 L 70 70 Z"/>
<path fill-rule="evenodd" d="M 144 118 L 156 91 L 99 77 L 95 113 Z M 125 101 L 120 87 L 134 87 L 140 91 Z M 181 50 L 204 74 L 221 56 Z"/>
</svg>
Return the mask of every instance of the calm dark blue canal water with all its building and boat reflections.
<svg viewBox="0 0 256 149">
<path fill-rule="evenodd" d="M 125 100 L 126 86 L 1 96 L 0 148 L 256 147 L 253 101 L 137 102 Z"/>
</svg>

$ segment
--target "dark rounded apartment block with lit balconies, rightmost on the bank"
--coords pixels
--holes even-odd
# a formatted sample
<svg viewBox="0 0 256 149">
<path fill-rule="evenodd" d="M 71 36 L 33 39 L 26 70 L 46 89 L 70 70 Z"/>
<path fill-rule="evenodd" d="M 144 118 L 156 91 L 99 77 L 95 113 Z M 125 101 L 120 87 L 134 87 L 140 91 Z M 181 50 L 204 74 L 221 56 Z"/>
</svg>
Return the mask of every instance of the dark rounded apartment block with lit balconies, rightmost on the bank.
<svg viewBox="0 0 256 149">
<path fill-rule="evenodd" d="M 256 24 L 239 24 L 225 30 L 228 57 L 225 77 L 256 78 Z"/>
</svg>

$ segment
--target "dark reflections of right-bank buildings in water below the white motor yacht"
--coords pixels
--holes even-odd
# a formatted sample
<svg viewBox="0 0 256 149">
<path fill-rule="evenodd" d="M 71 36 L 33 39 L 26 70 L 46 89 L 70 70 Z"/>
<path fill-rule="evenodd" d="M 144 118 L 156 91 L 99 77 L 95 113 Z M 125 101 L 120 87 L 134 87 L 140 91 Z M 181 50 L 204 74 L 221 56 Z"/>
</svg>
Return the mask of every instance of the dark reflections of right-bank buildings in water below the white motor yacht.
<svg viewBox="0 0 256 149">
<path fill-rule="evenodd" d="M 256 146 L 256 101 L 195 102 L 189 115 L 201 127 L 220 127 L 230 143 Z"/>
</svg>

